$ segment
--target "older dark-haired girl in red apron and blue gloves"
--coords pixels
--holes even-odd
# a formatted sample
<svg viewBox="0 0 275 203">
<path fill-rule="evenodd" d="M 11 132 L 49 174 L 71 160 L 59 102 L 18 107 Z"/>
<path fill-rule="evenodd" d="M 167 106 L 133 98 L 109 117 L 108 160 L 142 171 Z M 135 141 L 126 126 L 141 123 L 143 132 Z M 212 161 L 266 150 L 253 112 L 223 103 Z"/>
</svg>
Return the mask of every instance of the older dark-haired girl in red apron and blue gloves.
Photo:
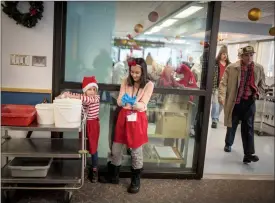
<svg viewBox="0 0 275 203">
<path fill-rule="evenodd" d="M 137 193 L 140 188 L 140 173 L 143 169 L 142 145 L 148 142 L 146 110 L 154 84 L 148 79 L 147 65 L 143 58 L 129 61 L 129 69 L 129 76 L 122 81 L 117 99 L 117 104 L 122 109 L 116 123 L 108 173 L 105 177 L 100 177 L 99 181 L 119 183 L 122 149 L 125 144 L 132 149 L 132 178 L 128 192 Z"/>
</svg>

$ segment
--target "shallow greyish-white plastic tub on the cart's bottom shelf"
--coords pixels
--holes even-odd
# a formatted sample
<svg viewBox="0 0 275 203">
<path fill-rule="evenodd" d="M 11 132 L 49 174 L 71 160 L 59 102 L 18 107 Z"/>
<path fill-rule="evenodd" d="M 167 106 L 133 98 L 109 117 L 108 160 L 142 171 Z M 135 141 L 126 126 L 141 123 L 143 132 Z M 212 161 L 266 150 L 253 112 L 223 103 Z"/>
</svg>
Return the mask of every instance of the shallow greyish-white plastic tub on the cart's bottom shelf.
<svg viewBox="0 0 275 203">
<path fill-rule="evenodd" d="M 52 158 L 14 158 L 8 165 L 12 177 L 46 177 Z"/>
</svg>

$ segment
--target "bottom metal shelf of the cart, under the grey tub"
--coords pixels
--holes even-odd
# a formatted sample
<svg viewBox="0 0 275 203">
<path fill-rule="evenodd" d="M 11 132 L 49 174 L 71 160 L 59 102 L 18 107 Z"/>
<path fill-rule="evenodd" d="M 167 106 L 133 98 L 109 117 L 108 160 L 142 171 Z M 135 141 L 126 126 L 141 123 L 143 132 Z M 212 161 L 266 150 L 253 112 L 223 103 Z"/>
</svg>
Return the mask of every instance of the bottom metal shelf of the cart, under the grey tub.
<svg viewBox="0 0 275 203">
<path fill-rule="evenodd" d="M 80 184 L 81 160 L 54 160 L 45 178 L 16 178 L 11 176 L 8 164 L 1 170 L 1 183 L 9 184 Z"/>
</svg>

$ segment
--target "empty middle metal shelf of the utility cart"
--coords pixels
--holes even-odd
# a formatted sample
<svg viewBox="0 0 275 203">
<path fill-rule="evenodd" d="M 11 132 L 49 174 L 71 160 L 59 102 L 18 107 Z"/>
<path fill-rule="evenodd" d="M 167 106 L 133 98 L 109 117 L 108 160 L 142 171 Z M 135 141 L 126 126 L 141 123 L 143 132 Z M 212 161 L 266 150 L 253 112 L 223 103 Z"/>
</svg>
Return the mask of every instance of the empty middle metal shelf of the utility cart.
<svg viewBox="0 0 275 203">
<path fill-rule="evenodd" d="M 10 157 L 80 158 L 81 139 L 19 138 L 1 146 L 1 155 Z"/>
</svg>

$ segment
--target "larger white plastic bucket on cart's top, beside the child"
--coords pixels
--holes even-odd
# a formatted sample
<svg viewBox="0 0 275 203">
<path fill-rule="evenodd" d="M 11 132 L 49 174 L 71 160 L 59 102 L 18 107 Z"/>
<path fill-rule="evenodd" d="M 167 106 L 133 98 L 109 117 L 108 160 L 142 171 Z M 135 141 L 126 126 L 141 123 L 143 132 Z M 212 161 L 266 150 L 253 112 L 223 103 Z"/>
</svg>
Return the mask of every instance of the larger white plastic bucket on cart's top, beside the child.
<svg viewBox="0 0 275 203">
<path fill-rule="evenodd" d="M 78 128 L 81 125 L 82 101 L 80 99 L 54 100 L 55 126 L 59 128 Z"/>
</svg>

